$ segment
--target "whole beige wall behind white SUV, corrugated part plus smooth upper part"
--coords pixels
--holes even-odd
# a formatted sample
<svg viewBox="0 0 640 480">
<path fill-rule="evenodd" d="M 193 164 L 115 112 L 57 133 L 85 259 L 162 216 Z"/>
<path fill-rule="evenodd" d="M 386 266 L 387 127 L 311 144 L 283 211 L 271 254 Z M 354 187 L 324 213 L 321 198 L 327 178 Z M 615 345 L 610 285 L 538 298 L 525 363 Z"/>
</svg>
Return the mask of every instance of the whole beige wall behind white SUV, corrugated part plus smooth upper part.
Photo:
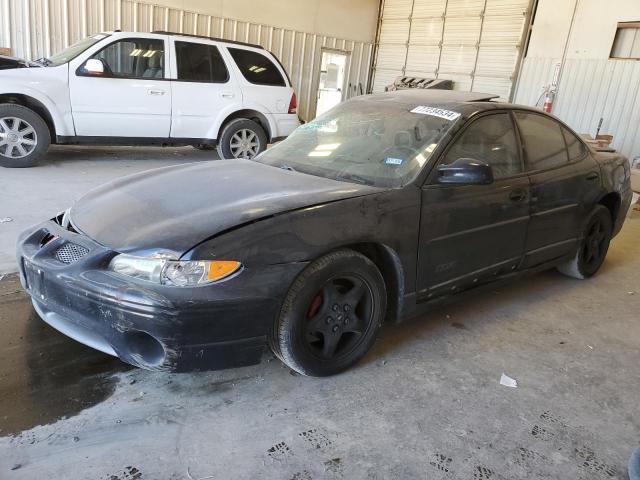
<svg viewBox="0 0 640 480">
<path fill-rule="evenodd" d="M 323 48 L 349 55 L 344 99 L 368 88 L 378 0 L 341 4 L 342 9 L 338 0 L 0 0 L 0 47 L 36 59 L 115 29 L 168 30 L 261 44 L 282 61 L 298 94 L 298 112 L 310 120 Z"/>
</svg>

